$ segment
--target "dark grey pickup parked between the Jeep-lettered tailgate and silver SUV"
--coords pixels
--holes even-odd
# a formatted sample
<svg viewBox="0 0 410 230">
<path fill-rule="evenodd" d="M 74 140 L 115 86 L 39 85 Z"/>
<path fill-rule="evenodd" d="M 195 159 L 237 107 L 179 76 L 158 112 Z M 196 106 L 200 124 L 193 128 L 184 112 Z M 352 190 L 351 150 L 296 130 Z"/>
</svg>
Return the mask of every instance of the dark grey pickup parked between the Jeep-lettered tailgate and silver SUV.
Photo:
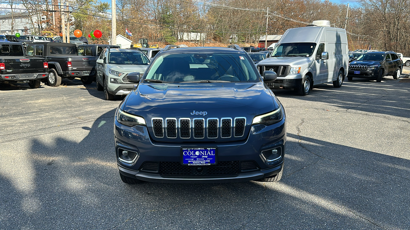
<svg viewBox="0 0 410 230">
<path fill-rule="evenodd" d="M 93 83 L 96 60 L 93 56 L 78 56 L 77 46 L 72 43 L 40 42 L 27 45 L 26 56 L 43 57 L 48 62 L 49 86 L 59 86 L 62 78 L 78 77 L 84 85 Z"/>
</svg>

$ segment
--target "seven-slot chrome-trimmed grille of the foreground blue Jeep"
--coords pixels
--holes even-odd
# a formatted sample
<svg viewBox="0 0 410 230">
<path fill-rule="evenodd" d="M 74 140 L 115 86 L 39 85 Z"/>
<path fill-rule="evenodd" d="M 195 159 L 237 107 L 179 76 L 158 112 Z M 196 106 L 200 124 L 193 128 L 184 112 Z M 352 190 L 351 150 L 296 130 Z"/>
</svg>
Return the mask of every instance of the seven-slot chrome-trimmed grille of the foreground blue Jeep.
<svg viewBox="0 0 410 230">
<path fill-rule="evenodd" d="M 246 117 L 179 118 L 178 122 L 174 117 L 153 117 L 151 121 L 156 138 L 240 138 L 246 127 Z"/>
</svg>

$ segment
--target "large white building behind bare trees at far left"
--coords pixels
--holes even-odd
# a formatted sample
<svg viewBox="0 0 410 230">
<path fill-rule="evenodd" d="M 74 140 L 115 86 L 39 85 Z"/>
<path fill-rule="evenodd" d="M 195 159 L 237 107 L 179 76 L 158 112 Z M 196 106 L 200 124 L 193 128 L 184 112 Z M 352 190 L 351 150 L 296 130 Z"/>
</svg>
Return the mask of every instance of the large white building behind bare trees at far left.
<svg viewBox="0 0 410 230">
<path fill-rule="evenodd" d="M 25 13 L 14 13 L 11 17 L 11 13 L 0 15 L 0 34 L 36 34 L 37 31 L 46 27 L 46 24 L 36 23 L 39 20 L 46 20 L 45 16 L 42 15 L 32 15 L 32 20 L 30 20 L 30 14 Z M 13 20 L 11 19 L 13 18 Z M 34 23 L 34 27 L 33 27 Z M 13 24 L 13 31 L 11 31 L 11 25 Z"/>
</svg>

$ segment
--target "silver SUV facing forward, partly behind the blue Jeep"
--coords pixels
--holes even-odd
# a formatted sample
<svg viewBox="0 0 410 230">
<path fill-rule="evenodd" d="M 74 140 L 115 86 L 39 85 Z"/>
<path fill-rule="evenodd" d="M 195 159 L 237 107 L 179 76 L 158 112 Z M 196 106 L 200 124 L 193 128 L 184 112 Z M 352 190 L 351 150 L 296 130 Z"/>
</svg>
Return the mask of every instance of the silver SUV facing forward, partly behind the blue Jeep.
<svg viewBox="0 0 410 230">
<path fill-rule="evenodd" d="M 104 90 L 106 100 L 127 95 L 134 88 L 127 75 L 139 72 L 142 76 L 149 63 L 148 57 L 139 49 L 104 49 L 96 64 L 97 90 Z"/>
</svg>

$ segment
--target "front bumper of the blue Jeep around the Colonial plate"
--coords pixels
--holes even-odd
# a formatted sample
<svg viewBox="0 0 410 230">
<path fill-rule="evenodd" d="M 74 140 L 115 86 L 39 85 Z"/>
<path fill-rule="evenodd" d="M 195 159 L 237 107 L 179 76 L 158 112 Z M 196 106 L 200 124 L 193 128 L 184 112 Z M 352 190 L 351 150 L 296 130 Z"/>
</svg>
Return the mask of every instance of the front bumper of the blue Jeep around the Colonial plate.
<svg viewBox="0 0 410 230">
<path fill-rule="evenodd" d="M 281 122 L 270 126 L 254 125 L 251 128 L 248 138 L 235 142 L 155 142 L 150 138 L 146 126 L 128 127 L 119 124 L 114 118 L 114 142 L 116 147 L 116 158 L 119 172 L 124 176 L 137 178 L 139 180 L 166 183 L 222 183 L 241 182 L 257 180 L 269 176 L 274 176 L 282 170 L 285 154 L 286 142 L 286 118 Z M 162 165 L 172 163 L 176 168 L 187 169 L 188 166 L 181 166 L 181 147 L 217 147 L 217 160 L 219 164 L 223 162 L 254 162 L 255 168 L 247 171 L 239 170 L 233 174 L 205 174 L 195 172 L 193 174 L 167 174 L 162 170 Z M 269 165 L 263 160 L 262 151 L 281 147 L 281 158 Z M 119 149 L 138 152 L 135 162 L 125 163 L 118 159 Z M 146 162 L 156 162 L 157 171 L 146 171 Z M 164 166 L 165 167 L 165 166 Z M 191 166 L 189 166 L 191 167 Z M 242 166 L 240 166 L 242 167 Z M 243 168 L 240 168 L 243 169 Z"/>
</svg>

